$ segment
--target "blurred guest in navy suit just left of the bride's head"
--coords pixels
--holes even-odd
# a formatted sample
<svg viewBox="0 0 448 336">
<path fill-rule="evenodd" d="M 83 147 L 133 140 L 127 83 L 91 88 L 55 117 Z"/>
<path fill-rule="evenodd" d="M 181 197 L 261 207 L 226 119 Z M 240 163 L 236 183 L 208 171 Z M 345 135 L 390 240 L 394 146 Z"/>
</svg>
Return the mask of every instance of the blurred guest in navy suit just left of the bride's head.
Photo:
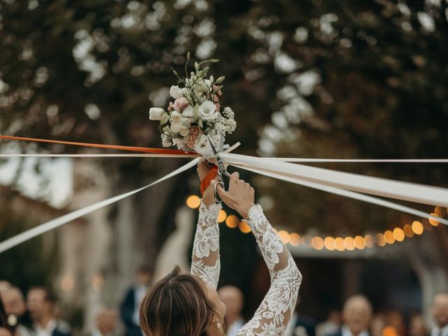
<svg viewBox="0 0 448 336">
<path fill-rule="evenodd" d="M 152 274 L 148 267 L 140 267 L 137 271 L 137 283 L 125 295 L 120 305 L 120 314 L 125 324 L 125 336 L 142 336 L 139 323 L 139 309 L 141 300 L 148 286 L 151 284 Z"/>
</svg>

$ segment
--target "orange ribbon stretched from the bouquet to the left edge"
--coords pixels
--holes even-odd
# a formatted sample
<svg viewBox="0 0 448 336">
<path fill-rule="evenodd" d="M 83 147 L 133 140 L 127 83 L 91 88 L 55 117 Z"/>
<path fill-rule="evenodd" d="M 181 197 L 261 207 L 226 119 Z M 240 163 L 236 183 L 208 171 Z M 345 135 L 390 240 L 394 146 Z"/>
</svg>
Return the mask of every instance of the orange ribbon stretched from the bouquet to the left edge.
<svg viewBox="0 0 448 336">
<path fill-rule="evenodd" d="M 174 155 L 184 155 L 184 156 L 200 156 L 197 153 L 179 151 L 176 149 L 163 149 L 163 148 L 148 148 L 148 147 L 134 147 L 134 146 L 116 146 L 116 145 L 104 145 L 104 144 L 88 144 L 85 142 L 73 142 L 73 141 L 58 141 L 58 140 L 48 140 L 48 139 L 34 139 L 34 138 L 23 138 L 23 137 L 10 137 L 8 135 L 0 135 L 0 139 L 6 140 L 20 140 L 20 141 L 36 141 L 36 142 L 46 142 L 50 144 L 63 144 L 63 145 L 73 145 L 73 146 L 83 146 L 83 147 L 93 147 L 93 148 L 107 148 L 107 149 L 117 149 L 119 151 L 133 151 L 151 154 L 174 154 Z"/>
</svg>

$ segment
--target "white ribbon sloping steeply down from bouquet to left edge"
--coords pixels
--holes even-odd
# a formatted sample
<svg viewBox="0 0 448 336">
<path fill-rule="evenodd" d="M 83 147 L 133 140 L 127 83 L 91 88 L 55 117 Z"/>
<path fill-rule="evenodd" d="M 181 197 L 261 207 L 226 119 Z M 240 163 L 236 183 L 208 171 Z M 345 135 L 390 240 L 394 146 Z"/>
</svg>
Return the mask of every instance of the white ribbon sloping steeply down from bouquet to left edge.
<svg viewBox="0 0 448 336">
<path fill-rule="evenodd" d="M 14 237 L 10 237 L 4 241 L 2 241 L 0 243 L 0 253 L 4 252 L 4 251 L 8 251 L 10 248 L 13 248 L 14 246 L 18 246 L 19 244 L 22 244 L 23 242 L 37 237 L 38 235 L 42 235 L 45 232 L 48 232 L 50 230 L 53 230 L 55 228 L 59 228 L 60 226 L 69 223 L 73 220 L 75 220 L 76 218 L 80 218 L 81 216 L 85 216 L 87 214 L 90 214 L 92 211 L 101 209 L 103 207 L 106 207 L 109 204 L 113 204 L 115 202 L 118 202 L 119 200 L 123 200 L 126 197 L 130 197 L 134 194 L 139 193 L 142 190 L 145 190 L 147 188 L 150 188 L 151 186 L 155 186 L 156 184 L 165 181 L 167 179 L 170 179 L 171 177 L 180 174 L 182 172 L 185 172 L 186 170 L 190 169 L 191 167 L 197 165 L 197 163 L 199 162 L 200 158 L 195 158 L 194 160 L 188 162 L 186 165 L 183 165 L 182 167 L 174 170 L 173 172 L 161 177 L 160 179 L 158 179 L 157 181 L 154 181 L 151 184 L 148 184 L 147 186 L 144 186 L 142 188 L 138 188 L 136 190 L 132 190 L 130 192 L 127 193 L 123 193 L 121 195 L 117 195 L 114 197 L 111 197 L 107 200 L 103 200 L 100 202 L 97 202 L 95 204 L 89 205 L 87 207 L 84 207 L 82 209 L 78 209 L 76 211 L 73 211 L 69 214 L 66 214 L 64 216 L 58 217 L 53 219 L 52 221 L 48 221 L 46 223 L 43 223 L 41 225 L 38 225 L 34 228 L 31 228 L 25 232 L 22 232 L 18 235 L 15 235 Z"/>
</svg>

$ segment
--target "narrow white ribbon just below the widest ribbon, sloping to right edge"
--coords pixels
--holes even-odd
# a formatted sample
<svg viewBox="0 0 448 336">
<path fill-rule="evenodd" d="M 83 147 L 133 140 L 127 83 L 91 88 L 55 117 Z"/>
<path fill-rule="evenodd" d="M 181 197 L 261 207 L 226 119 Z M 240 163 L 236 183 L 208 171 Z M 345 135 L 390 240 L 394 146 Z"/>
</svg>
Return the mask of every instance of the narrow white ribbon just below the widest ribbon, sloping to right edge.
<svg viewBox="0 0 448 336">
<path fill-rule="evenodd" d="M 248 172 L 253 172 L 256 174 L 261 174 L 264 176 L 268 176 L 274 179 L 279 179 L 282 181 L 286 181 L 286 182 L 290 182 L 290 183 L 295 183 L 298 184 L 300 186 L 305 186 L 305 187 L 309 187 L 309 188 L 313 188 L 316 190 L 322 190 L 325 191 L 327 193 L 332 193 L 335 195 L 339 195 L 339 196 L 344 196 L 344 197 L 349 197 L 353 200 L 358 200 L 358 201 L 363 201 L 363 202 L 367 202 L 367 203 L 371 203 L 371 204 L 376 204 L 379 205 L 381 207 L 386 207 L 389 209 L 394 209 L 394 210 L 398 210 L 398 211 L 402 211 L 405 212 L 407 214 L 412 214 L 414 216 L 419 216 L 422 218 L 431 218 L 439 223 L 443 223 L 444 225 L 448 225 L 448 220 L 444 219 L 444 218 L 440 218 L 437 216 L 433 216 L 430 214 L 427 214 L 424 211 L 420 211 L 411 207 L 405 207 L 404 205 L 401 204 L 397 204 L 397 203 L 393 203 L 393 202 L 389 202 L 386 200 L 381 200 L 380 198 L 377 197 L 372 197 L 369 195 L 364 195 L 364 194 L 360 194 L 360 193 L 355 193 L 353 191 L 349 191 L 349 190 L 343 190 L 343 189 L 339 189 L 339 188 L 335 188 L 335 187 L 330 187 L 330 186 L 323 186 L 320 185 L 318 183 L 312 183 L 312 182 L 307 182 L 307 181 L 302 181 L 300 179 L 294 179 L 290 176 L 285 176 L 285 175 L 281 175 L 281 174 L 274 174 L 272 172 L 266 172 L 264 169 L 255 169 L 255 168 L 250 168 L 248 166 L 244 166 L 244 165 L 234 165 L 232 164 L 232 166 L 234 167 L 239 167 L 241 169 L 247 170 Z"/>
</svg>

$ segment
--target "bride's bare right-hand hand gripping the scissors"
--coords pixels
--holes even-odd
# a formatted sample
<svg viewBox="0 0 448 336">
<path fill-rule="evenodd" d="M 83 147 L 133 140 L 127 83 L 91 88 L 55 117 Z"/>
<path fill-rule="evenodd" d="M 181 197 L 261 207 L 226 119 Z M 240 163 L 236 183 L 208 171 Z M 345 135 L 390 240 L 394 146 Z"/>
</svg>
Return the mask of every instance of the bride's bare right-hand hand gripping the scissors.
<svg viewBox="0 0 448 336">
<path fill-rule="evenodd" d="M 215 185 L 216 181 L 211 181 L 211 184 Z M 255 190 L 249 183 L 239 179 L 238 172 L 230 176 L 229 190 L 224 190 L 218 184 L 216 192 L 228 207 L 238 211 L 242 218 L 247 218 L 249 209 L 255 202 Z"/>
</svg>

